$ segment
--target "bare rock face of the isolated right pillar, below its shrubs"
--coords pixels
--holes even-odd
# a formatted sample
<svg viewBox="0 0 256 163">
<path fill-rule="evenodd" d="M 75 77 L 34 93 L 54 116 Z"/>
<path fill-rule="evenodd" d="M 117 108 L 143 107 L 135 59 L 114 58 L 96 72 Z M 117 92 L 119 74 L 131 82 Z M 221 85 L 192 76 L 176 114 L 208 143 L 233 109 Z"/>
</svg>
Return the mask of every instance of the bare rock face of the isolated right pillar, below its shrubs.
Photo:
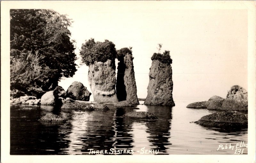
<svg viewBox="0 0 256 163">
<path fill-rule="evenodd" d="M 172 66 L 153 60 L 149 72 L 148 95 L 144 104 L 175 106 L 172 88 Z"/>
</svg>

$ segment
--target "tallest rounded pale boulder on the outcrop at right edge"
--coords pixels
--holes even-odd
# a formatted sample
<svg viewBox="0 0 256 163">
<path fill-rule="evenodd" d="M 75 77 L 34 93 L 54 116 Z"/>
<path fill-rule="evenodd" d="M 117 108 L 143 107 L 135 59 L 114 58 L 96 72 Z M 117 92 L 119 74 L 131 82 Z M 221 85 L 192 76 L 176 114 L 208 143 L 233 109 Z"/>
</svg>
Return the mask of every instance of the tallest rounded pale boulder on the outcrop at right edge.
<svg viewBox="0 0 256 163">
<path fill-rule="evenodd" d="M 228 91 L 227 99 L 240 102 L 244 107 L 248 107 L 248 93 L 239 85 L 234 85 Z"/>
</svg>

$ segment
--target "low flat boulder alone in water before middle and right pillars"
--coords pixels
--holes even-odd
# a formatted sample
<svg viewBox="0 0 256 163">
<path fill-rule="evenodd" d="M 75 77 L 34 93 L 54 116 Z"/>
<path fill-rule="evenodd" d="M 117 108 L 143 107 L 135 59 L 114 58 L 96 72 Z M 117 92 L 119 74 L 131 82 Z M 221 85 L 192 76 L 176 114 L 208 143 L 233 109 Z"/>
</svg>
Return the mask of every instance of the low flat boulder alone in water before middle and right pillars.
<svg viewBox="0 0 256 163">
<path fill-rule="evenodd" d="M 129 112 L 121 116 L 122 118 L 135 118 L 135 119 L 157 119 L 156 115 L 149 112 Z"/>
</svg>

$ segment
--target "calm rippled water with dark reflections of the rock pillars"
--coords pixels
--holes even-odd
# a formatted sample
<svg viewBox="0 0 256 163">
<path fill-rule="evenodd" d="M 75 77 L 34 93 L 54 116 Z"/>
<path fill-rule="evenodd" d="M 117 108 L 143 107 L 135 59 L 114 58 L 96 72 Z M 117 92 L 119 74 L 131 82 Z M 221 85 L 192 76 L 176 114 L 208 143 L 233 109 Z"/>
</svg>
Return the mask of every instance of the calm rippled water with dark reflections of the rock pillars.
<svg viewBox="0 0 256 163">
<path fill-rule="evenodd" d="M 237 143 L 247 143 L 247 129 L 228 132 L 190 123 L 215 112 L 186 108 L 190 102 L 175 101 L 175 107 L 137 106 L 140 109 L 135 111 L 151 112 L 158 120 L 118 118 L 132 110 L 113 106 L 108 111 L 62 111 L 50 106 L 21 111 L 18 109 L 28 106 L 11 105 L 10 154 L 89 154 L 88 149 L 108 150 L 108 153 L 133 150 L 132 154 L 145 150 L 159 150 L 158 154 L 234 154 Z M 51 112 L 68 121 L 59 124 L 37 121 Z M 235 145 L 234 150 L 217 151 L 220 144 L 230 143 Z M 247 148 L 242 149 L 247 154 Z"/>
</svg>

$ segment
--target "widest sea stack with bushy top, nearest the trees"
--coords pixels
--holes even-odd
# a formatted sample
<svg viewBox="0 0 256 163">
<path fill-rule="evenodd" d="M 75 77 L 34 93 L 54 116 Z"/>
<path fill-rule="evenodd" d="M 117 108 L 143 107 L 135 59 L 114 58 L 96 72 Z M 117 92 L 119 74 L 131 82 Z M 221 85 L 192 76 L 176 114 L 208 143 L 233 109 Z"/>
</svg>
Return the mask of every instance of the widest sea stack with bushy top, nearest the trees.
<svg viewBox="0 0 256 163">
<path fill-rule="evenodd" d="M 111 41 L 85 41 L 80 55 L 82 61 L 89 66 L 88 81 L 95 102 L 117 102 L 116 97 L 116 48 Z"/>
</svg>

